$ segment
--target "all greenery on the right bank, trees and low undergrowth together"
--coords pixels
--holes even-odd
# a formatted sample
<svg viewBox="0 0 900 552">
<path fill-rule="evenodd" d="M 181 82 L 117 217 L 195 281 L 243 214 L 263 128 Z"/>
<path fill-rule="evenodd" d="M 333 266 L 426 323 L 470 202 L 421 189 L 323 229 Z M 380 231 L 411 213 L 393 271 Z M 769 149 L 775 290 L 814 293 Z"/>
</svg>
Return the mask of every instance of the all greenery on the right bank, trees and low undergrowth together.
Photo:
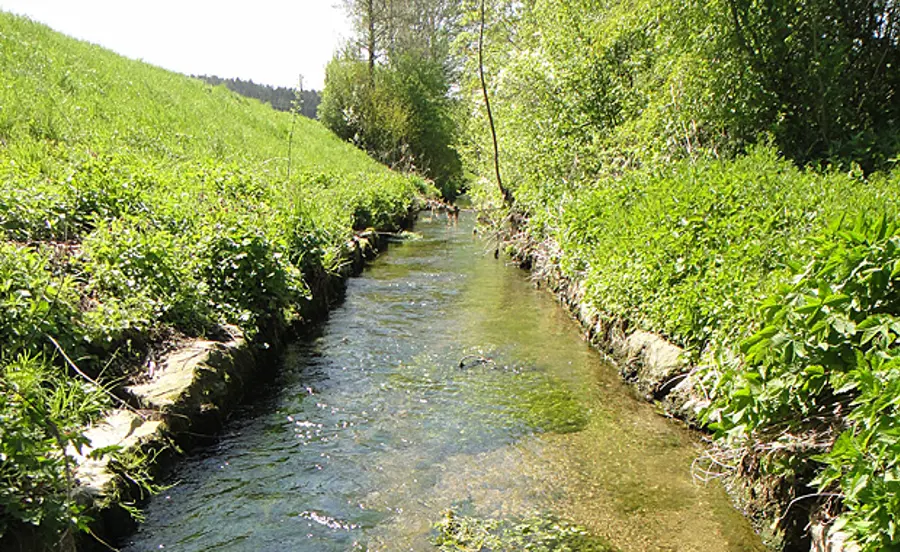
<svg viewBox="0 0 900 552">
<path fill-rule="evenodd" d="M 897 5 L 488 1 L 509 201 L 479 4 L 458 150 L 487 212 L 603 317 L 686 348 L 718 469 L 778 482 L 768 523 L 896 546 Z"/>
</svg>

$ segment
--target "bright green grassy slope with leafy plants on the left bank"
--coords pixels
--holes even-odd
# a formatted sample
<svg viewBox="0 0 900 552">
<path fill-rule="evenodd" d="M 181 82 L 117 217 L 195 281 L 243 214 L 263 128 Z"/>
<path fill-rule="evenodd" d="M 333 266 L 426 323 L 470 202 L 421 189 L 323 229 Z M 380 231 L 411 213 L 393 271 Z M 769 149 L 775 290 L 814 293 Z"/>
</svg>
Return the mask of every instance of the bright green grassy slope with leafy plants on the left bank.
<svg viewBox="0 0 900 552">
<path fill-rule="evenodd" d="M 222 324 L 264 339 L 424 190 L 318 123 L 0 14 L 0 542 L 84 526 L 63 451 L 112 400 L 87 378 Z"/>
</svg>

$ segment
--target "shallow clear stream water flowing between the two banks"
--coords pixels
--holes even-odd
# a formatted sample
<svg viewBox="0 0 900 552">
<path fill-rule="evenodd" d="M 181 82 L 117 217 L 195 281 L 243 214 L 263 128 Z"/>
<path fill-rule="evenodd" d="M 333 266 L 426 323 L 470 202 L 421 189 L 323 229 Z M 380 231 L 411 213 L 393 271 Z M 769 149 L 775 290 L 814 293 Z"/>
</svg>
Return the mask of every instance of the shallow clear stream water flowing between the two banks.
<svg viewBox="0 0 900 552">
<path fill-rule="evenodd" d="M 448 509 L 552 515 L 622 551 L 763 550 L 693 481 L 695 436 L 634 399 L 471 216 L 416 230 L 181 464 L 127 551 L 427 551 Z"/>
</svg>

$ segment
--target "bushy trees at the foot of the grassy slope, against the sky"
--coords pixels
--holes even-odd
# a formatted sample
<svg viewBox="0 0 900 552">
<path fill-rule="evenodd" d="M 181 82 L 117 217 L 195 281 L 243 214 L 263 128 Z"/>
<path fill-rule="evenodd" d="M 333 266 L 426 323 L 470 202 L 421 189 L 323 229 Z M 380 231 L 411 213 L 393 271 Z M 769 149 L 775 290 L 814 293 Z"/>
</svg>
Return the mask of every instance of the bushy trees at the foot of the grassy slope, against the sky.
<svg viewBox="0 0 900 552">
<path fill-rule="evenodd" d="M 319 118 L 375 159 L 462 187 L 451 59 L 459 7 L 433 0 L 351 0 L 356 39 L 328 65 Z"/>
</svg>

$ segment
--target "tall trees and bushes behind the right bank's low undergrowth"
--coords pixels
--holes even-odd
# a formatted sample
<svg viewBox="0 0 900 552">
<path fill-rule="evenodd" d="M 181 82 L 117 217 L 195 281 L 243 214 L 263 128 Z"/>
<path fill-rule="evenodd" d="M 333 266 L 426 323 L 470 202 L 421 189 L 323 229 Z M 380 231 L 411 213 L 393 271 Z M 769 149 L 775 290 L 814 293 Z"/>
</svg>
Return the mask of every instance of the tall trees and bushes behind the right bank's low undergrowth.
<svg viewBox="0 0 900 552">
<path fill-rule="evenodd" d="M 900 14 L 890 2 L 487 4 L 485 67 L 513 189 L 733 157 L 765 140 L 801 164 L 866 172 L 890 168 L 900 151 Z M 466 169 L 481 176 L 493 152 L 477 37 L 459 41 L 471 98 L 459 125 Z"/>
</svg>

